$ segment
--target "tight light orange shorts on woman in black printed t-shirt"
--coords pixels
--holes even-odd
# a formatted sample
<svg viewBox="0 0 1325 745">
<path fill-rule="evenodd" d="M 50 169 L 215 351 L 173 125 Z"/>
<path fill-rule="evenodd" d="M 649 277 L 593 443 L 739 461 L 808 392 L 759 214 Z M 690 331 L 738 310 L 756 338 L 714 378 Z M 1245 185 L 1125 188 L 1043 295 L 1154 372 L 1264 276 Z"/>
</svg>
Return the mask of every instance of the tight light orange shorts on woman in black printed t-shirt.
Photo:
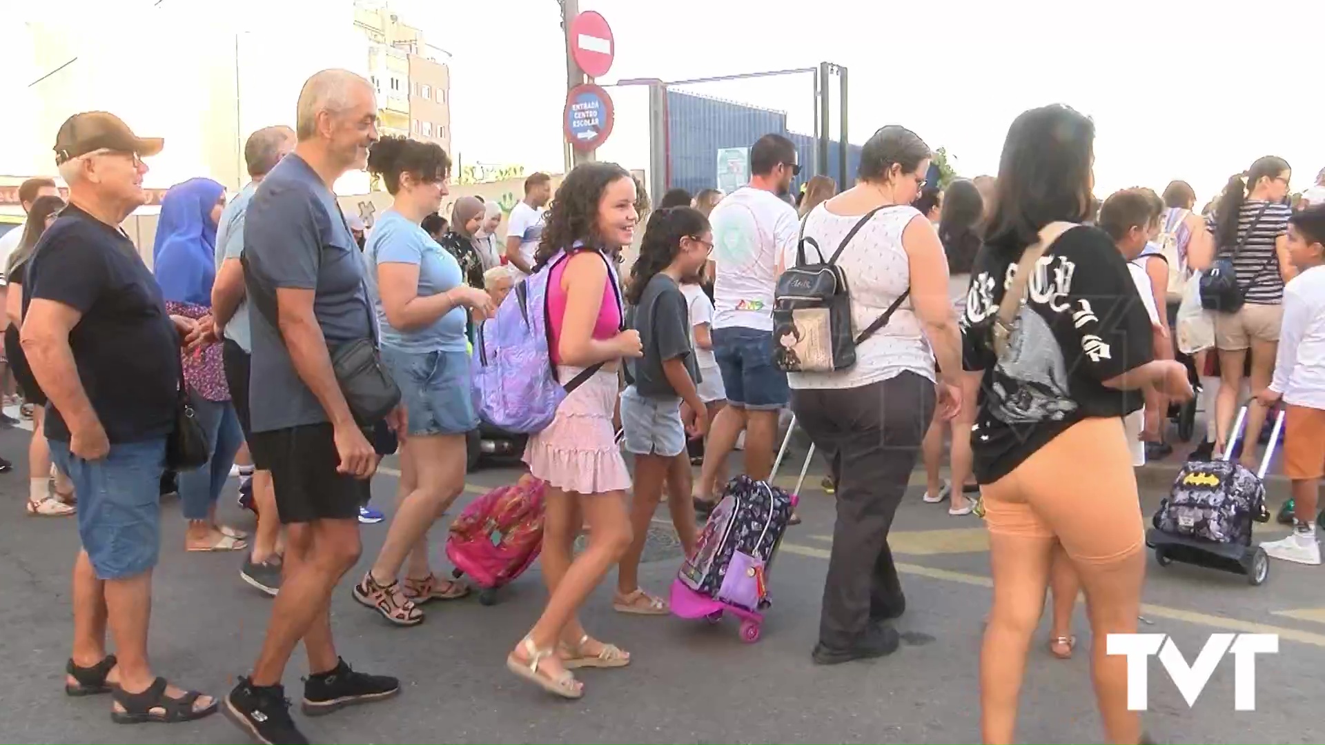
<svg viewBox="0 0 1325 745">
<path fill-rule="evenodd" d="M 1145 545 L 1122 418 L 1077 422 L 980 496 L 990 533 L 1057 538 L 1073 561 L 1113 563 Z"/>
</svg>

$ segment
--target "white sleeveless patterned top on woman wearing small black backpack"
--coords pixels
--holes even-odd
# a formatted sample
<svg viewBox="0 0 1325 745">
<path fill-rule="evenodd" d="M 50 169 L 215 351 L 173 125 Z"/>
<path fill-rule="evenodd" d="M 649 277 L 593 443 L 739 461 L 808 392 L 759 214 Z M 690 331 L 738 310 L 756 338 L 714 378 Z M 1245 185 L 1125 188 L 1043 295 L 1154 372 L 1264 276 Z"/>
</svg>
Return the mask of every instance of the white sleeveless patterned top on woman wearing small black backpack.
<svg viewBox="0 0 1325 745">
<path fill-rule="evenodd" d="M 861 217 L 833 215 L 820 204 L 806 220 L 806 237 L 823 247 L 827 260 Z M 902 248 L 902 231 L 917 217 L 920 211 L 910 205 L 880 209 L 837 257 L 837 266 L 848 278 L 852 335 L 868 329 L 910 288 L 910 258 Z M 795 245 L 786 248 L 783 261 L 786 266 L 795 265 Z M 833 372 L 788 372 L 787 383 L 792 388 L 859 388 L 905 371 L 934 379 L 934 353 L 909 298 L 888 323 L 856 347 L 856 365 Z"/>
</svg>

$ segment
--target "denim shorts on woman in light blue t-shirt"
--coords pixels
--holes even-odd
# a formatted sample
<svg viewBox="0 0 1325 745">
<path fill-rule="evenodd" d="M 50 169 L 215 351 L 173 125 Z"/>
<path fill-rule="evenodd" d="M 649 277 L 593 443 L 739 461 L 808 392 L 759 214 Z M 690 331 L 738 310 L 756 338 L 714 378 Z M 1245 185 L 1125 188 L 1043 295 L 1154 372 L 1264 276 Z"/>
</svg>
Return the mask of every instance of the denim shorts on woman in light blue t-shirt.
<svg viewBox="0 0 1325 745">
<path fill-rule="evenodd" d="M 400 386 L 411 435 L 464 435 L 478 427 L 468 354 L 383 346 L 382 362 Z"/>
</svg>

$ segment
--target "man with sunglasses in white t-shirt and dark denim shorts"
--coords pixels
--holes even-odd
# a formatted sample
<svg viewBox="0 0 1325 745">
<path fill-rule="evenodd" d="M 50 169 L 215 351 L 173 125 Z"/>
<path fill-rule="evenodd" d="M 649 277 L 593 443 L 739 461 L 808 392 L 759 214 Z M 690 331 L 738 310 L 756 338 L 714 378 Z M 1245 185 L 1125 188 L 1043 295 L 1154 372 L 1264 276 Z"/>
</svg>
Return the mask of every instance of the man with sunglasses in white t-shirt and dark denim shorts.
<svg viewBox="0 0 1325 745">
<path fill-rule="evenodd" d="M 719 467 L 742 431 L 745 473 L 765 480 L 772 471 L 778 414 L 787 406 L 787 375 L 772 365 L 775 265 L 796 241 L 799 221 L 787 201 L 800 172 L 796 146 L 767 134 L 750 148 L 750 183 L 713 209 L 713 351 L 727 404 L 713 420 L 696 510 L 706 514 Z"/>
</svg>

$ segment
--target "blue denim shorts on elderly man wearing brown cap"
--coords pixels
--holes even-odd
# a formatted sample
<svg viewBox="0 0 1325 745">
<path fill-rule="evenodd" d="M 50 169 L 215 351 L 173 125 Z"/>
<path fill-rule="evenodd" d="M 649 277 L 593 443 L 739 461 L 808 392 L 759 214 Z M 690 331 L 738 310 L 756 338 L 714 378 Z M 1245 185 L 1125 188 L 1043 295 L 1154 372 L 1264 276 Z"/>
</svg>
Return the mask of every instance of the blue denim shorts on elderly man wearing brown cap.
<svg viewBox="0 0 1325 745">
<path fill-rule="evenodd" d="M 50 459 L 78 496 L 78 538 L 99 579 L 127 579 L 156 566 L 162 546 L 160 480 L 166 439 L 110 445 L 102 460 L 50 440 Z"/>
</svg>

